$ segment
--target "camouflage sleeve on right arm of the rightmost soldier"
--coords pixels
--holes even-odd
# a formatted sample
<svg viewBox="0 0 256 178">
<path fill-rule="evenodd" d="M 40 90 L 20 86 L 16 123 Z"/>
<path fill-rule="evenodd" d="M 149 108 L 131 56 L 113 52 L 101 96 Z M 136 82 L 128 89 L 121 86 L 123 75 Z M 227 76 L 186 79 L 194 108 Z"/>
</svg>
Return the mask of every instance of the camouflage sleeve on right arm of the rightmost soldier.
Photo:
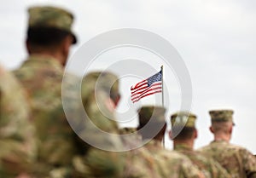
<svg viewBox="0 0 256 178">
<path fill-rule="evenodd" d="M 243 169 L 245 170 L 247 177 L 256 177 L 256 158 L 246 149 L 241 149 L 240 155 L 242 157 Z"/>
</svg>

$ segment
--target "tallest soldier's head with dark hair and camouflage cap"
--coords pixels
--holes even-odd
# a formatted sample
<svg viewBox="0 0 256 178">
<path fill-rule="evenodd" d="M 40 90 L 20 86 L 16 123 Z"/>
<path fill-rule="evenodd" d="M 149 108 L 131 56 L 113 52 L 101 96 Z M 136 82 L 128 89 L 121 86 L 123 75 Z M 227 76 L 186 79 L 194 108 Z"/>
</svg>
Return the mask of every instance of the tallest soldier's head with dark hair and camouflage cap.
<svg viewBox="0 0 256 178">
<path fill-rule="evenodd" d="M 64 66 L 70 46 L 77 42 L 71 30 L 73 14 L 44 6 L 28 9 L 26 49 L 30 55 L 52 55 Z"/>
</svg>

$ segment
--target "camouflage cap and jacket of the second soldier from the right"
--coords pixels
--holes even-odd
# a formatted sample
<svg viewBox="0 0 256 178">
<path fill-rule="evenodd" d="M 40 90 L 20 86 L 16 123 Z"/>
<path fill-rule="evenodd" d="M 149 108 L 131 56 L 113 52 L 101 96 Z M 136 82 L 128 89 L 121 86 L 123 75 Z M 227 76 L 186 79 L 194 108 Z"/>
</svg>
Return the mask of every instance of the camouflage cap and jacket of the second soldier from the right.
<svg viewBox="0 0 256 178">
<path fill-rule="evenodd" d="M 196 116 L 191 112 L 177 112 L 171 116 L 172 129 L 195 128 Z M 182 130 L 182 129 L 181 129 Z M 193 164 L 203 172 L 206 177 L 227 178 L 230 175 L 227 171 L 211 158 L 206 158 L 200 152 L 195 152 L 185 143 L 174 144 L 174 150 L 186 155 Z"/>
</svg>

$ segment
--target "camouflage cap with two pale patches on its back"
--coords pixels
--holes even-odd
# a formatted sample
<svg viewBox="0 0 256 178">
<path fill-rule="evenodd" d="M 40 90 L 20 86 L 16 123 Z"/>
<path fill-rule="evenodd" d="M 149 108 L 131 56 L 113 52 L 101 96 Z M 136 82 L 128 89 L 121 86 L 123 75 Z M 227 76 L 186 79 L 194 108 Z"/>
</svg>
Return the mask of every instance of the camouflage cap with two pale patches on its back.
<svg viewBox="0 0 256 178">
<path fill-rule="evenodd" d="M 195 128 L 195 114 L 187 111 L 176 112 L 171 116 L 172 127 L 174 126 L 183 126 Z"/>
</svg>

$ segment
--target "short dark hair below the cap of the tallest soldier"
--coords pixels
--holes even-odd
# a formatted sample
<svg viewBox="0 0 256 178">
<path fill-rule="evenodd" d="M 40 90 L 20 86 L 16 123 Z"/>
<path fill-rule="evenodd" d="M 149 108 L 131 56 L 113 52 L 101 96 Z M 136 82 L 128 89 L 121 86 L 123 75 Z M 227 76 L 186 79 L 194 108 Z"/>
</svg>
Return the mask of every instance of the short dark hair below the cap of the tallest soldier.
<svg viewBox="0 0 256 178">
<path fill-rule="evenodd" d="M 27 43 L 48 47 L 60 44 L 70 32 L 54 27 L 29 27 L 26 35 Z"/>
</svg>

